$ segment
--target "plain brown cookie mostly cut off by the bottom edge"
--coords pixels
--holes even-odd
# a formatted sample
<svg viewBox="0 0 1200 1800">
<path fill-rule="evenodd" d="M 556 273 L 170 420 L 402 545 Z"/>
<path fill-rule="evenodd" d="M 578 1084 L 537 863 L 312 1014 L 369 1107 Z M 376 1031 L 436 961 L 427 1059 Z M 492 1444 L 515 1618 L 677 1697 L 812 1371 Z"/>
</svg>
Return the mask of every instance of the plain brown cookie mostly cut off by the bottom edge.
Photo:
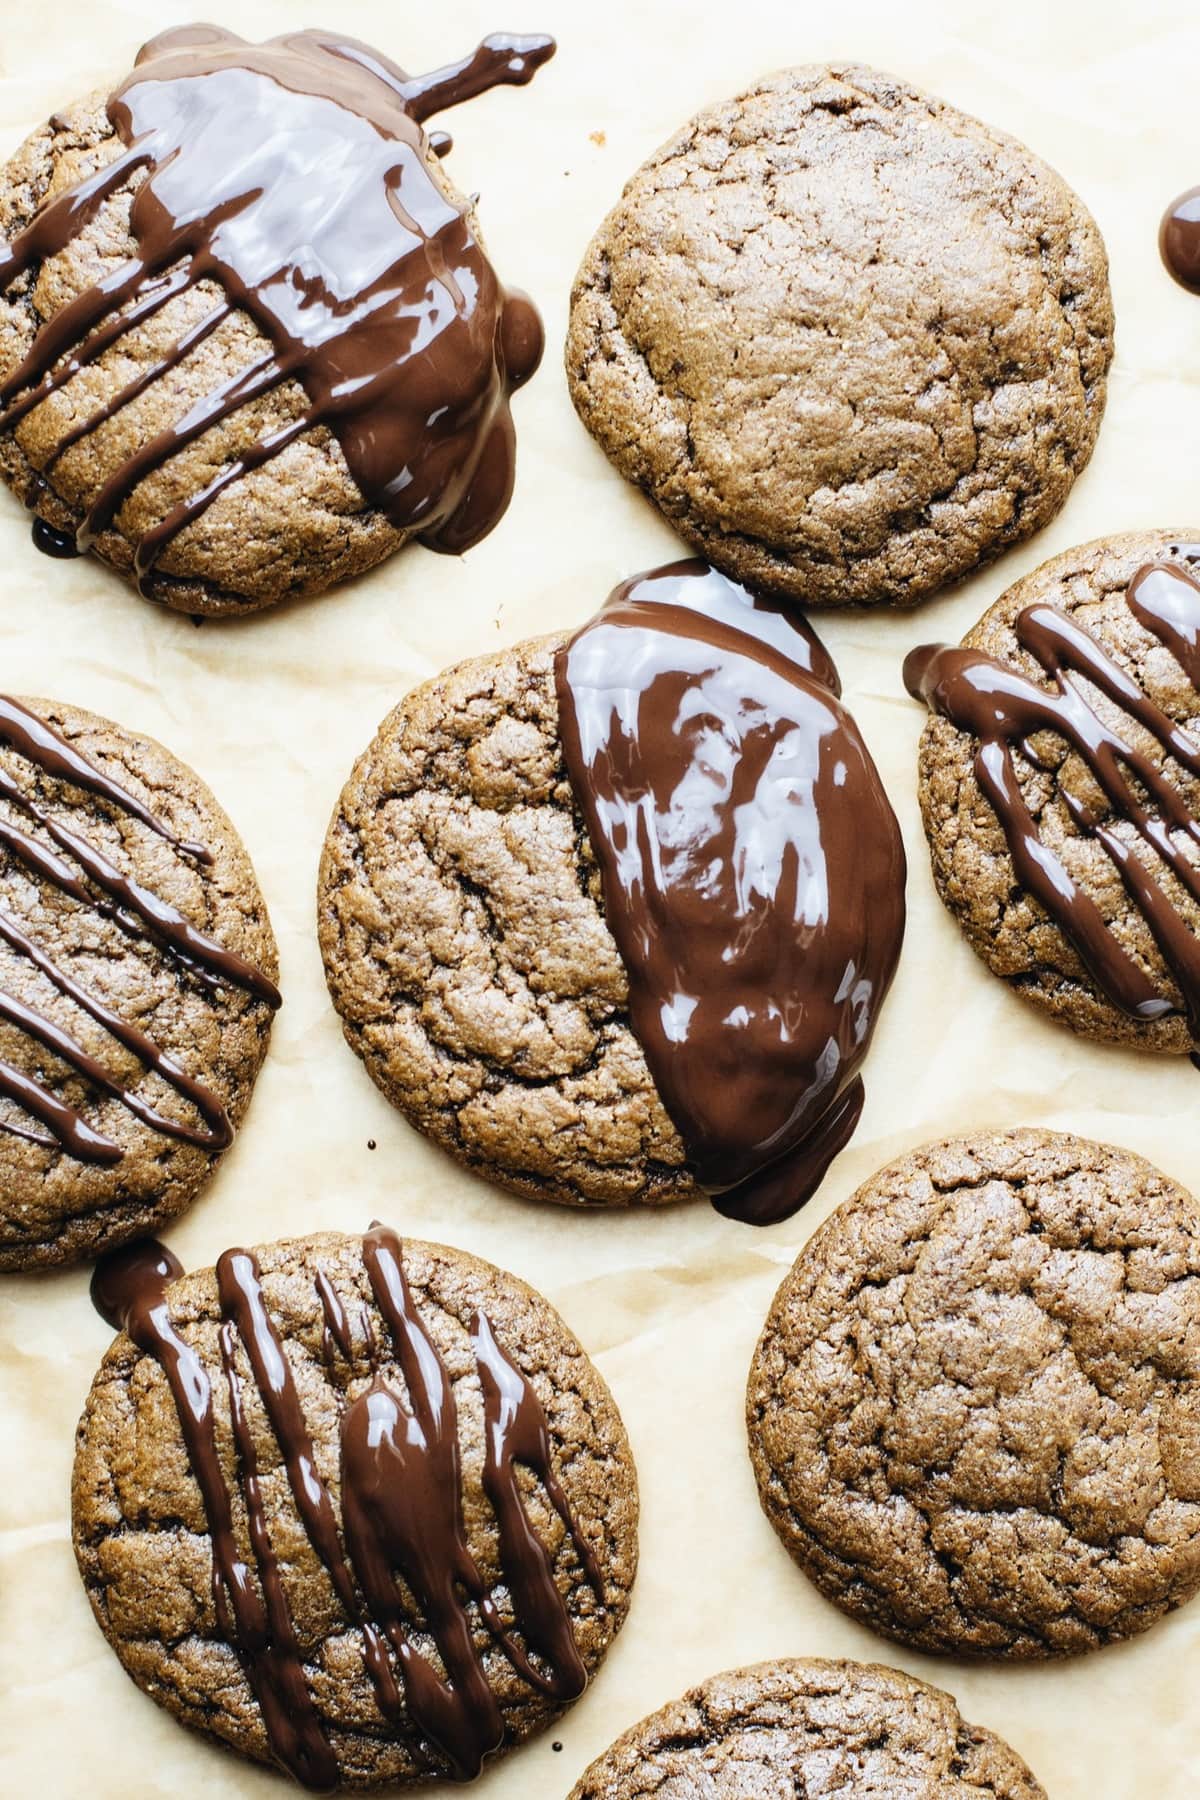
<svg viewBox="0 0 1200 1800">
<path fill-rule="evenodd" d="M 950 1694 L 880 1663 L 797 1658 L 714 1676 L 619 1737 L 570 1800 L 1045 1800 Z"/>
</svg>

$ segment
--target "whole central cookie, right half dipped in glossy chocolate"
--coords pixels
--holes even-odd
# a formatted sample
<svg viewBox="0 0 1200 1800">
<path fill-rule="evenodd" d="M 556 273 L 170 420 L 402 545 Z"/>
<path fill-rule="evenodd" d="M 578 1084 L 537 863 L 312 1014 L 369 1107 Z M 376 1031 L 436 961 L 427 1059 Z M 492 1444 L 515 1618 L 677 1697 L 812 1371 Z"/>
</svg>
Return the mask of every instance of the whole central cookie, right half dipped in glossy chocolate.
<svg viewBox="0 0 1200 1800">
<path fill-rule="evenodd" d="M 802 1204 L 858 1120 L 905 916 L 837 695 L 811 632 L 703 563 L 408 695 L 318 895 L 385 1094 L 534 1199 Z"/>
</svg>

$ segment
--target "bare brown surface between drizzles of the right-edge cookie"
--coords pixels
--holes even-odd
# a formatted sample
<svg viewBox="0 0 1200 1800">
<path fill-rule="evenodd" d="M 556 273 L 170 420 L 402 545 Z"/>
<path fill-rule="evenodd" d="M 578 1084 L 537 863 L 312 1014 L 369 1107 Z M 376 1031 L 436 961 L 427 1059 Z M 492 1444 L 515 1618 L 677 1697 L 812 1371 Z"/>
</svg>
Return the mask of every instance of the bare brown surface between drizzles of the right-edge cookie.
<svg viewBox="0 0 1200 1800">
<path fill-rule="evenodd" d="M 968 632 L 964 644 L 997 657 L 1052 695 L 1051 675 L 1022 646 L 1016 628 L 1029 607 L 1054 607 L 1083 626 L 1173 724 L 1195 733 L 1200 697 L 1193 682 L 1160 635 L 1139 623 L 1128 603 L 1130 578 L 1150 563 L 1198 572 L 1200 531 L 1135 531 L 1067 551 L 1009 587 Z M 1164 745 L 1141 729 L 1126 709 L 1085 682 L 1079 686 L 1097 718 L 1148 756 L 1178 799 L 1200 814 L 1200 779 L 1168 756 Z M 927 724 L 919 792 L 934 880 L 975 952 L 1016 994 L 1085 1037 L 1168 1053 L 1191 1049 L 1184 997 L 1150 923 L 1101 837 L 1094 830 L 1079 830 L 1072 803 L 1083 803 L 1097 824 L 1112 828 L 1115 839 L 1135 851 L 1193 934 L 1200 931 L 1196 898 L 1139 842 L 1133 823 L 1105 797 L 1092 770 L 1060 733 L 1038 734 L 1034 752 L 1040 767 L 1031 767 L 1020 754 L 1013 758 L 1016 785 L 1042 844 L 1099 907 L 1112 943 L 1169 1001 L 1159 1017 L 1130 1015 L 1108 997 L 1060 923 L 1024 886 L 1004 826 L 979 785 L 977 752 L 979 738 L 950 718 L 932 716 Z M 1182 833 L 1177 844 L 1191 862 L 1200 860 Z"/>
</svg>

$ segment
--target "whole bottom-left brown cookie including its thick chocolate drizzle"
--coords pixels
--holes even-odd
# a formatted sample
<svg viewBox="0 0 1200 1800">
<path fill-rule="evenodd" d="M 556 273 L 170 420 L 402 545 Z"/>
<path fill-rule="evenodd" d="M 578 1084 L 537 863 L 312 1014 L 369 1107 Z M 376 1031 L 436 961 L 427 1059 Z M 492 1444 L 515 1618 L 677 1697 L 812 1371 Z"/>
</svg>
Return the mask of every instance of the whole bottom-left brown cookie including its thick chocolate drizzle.
<svg viewBox="0 0 1200 1800">
<path fill-rule="evenodd" d="M 79 1424 L 101 1631 L 184 1724 L 331 1793 L 473 1778 L 624 1622 L 637 1480 L 603 1379 L 516 1276 L 293 1238 L 97 1265 L 122 1336 Z"/>
</svg>

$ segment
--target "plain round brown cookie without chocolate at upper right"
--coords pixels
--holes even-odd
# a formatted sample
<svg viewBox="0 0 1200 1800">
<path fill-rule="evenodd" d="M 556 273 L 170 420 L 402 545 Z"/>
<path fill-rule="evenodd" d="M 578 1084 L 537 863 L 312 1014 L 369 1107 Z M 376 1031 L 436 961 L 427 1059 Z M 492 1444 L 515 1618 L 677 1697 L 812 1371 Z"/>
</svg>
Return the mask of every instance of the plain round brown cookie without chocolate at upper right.
<svg viewBox="0 0 1200 1800">
<path fill-rule="evenodd" d="M 637 171 L 576 277 L 567 378 L 716 567 L 910 607 L 1063 506 L 1112 333 L 1103 241 L 1052 169 L 837 65 L 709 108 Z"/>
</svg>

